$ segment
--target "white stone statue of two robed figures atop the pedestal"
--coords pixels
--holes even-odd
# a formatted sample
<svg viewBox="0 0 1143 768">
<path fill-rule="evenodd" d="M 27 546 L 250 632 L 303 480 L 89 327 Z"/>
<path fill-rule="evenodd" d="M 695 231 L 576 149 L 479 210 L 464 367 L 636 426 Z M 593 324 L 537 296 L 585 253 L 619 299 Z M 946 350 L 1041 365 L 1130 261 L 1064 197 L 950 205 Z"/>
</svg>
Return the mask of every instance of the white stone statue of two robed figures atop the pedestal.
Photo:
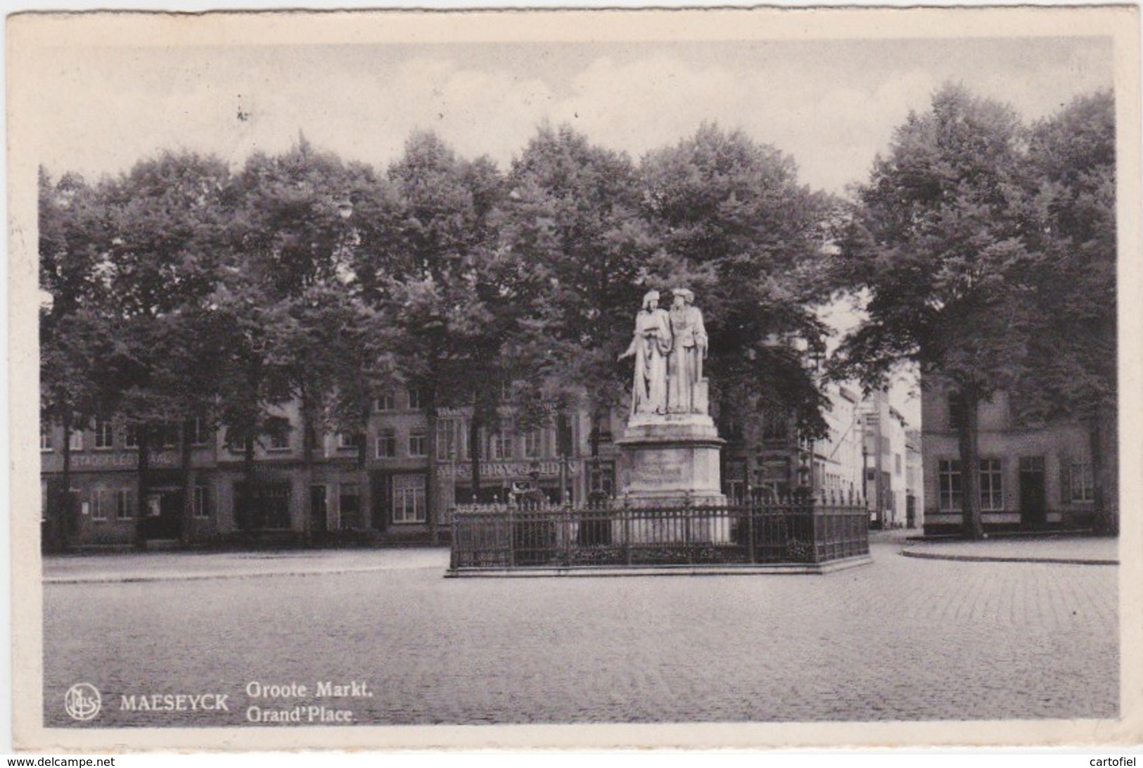
<svg viewBox="0 0 1143 768">
<path fill-rule="evenodd" d="M 660 309 L 660 294 L 644 296 L 636 333 L 620 360 L 634 355 L 631 414 L 706 414 L 703 360 L 706 328 L 688 288 L 671 291 L 671 311 Z"/>
</svg>

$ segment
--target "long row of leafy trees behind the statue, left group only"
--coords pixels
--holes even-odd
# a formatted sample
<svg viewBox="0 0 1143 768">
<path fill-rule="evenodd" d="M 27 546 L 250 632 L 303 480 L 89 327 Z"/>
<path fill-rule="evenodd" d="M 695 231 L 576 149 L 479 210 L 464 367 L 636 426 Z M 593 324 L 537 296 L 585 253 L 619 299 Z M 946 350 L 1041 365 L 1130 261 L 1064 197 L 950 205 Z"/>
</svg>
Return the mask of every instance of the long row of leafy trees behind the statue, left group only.
<svg viewBox="0 0 1143 768">
<path fill-rule="evenodd" d="M 298 405 L 312 473 L 315 435 L 362 434 L 394 382 L 423 395 L 430 455 L 442 408 L 472 408 L 473 441 L 498 429 L 505 383 L 525 425 L 582 399 L 598 423 L 629 386 L 615 358 L 642 293 L 688 285 L 728 417 L 765 395 L 820 430 L 813 381 L 769 339 L 823 343 L 830 203 L 789 157 L 717 126 L 639 163 L 545 127 L 506 173 L 427 133 L 384 174 L 304 138 L 233 174 L 191 153 L 94 184 L 41 171 L 42 417 L 65 433 L 125 419 L 141 499 L 154 430 L 181 419 L 189 518 L 192 419 L 246 445 L 247 488 L 254 446 L 289 429 L 278 406 Z"/>
</svg>

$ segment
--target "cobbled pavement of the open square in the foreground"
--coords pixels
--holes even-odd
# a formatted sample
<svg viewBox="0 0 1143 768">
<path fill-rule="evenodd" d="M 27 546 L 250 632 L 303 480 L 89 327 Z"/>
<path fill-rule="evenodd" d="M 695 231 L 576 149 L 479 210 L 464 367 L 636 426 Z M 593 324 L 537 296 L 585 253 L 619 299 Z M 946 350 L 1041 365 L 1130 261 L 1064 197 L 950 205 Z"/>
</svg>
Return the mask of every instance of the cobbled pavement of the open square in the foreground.
<svg viewBox="0 0 1143 768">
<path fill-rule="evenodd" d="M 263 577 L 51 583 L 93 571 L 50 560 L 45 717 L 82 727 L 63 707 L 77 682 L 103 696 L 90 725 L 120 727 L 242 726 L 251 705 L 386 725 L 1116 717 L 1118 568 L 901 544 L 828 576 L 446 579 L 443 550 L 389 550 L 321 553 L 307 576 L 281 562 L 313 553 L 199 555 L 280 568 Z M 371 695 L 314 696 L 351 680 Z M 307 694 L 255 698 L 251 681 Z M 121 709 L 208 693 L 230 711 Z"/>
</svg>

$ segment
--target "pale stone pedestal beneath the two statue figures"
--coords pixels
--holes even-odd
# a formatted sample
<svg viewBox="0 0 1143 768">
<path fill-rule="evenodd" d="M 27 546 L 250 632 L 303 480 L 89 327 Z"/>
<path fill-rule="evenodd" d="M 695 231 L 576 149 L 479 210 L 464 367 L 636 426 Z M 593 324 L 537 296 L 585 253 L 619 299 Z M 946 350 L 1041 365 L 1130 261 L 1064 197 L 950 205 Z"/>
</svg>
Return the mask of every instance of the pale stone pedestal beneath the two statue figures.
<svg viewBox="0 0 1143 768">
<path fill-rule="evenodd" d="M 719 462 L 726 441 L 718 437 L 710 416 L 638 414 L 628 422 L 623 438 L 615 442 L 630 463 L 623 496 L 636 515 L 623 528 L 621 541 L 640 544 L 730 541 L 730 521 L 725 514 L 684 511 L 687 505 L 726 505 Z M 646 509 L 646 514 L 640 514 L 640 509 Z"/>
</svg>

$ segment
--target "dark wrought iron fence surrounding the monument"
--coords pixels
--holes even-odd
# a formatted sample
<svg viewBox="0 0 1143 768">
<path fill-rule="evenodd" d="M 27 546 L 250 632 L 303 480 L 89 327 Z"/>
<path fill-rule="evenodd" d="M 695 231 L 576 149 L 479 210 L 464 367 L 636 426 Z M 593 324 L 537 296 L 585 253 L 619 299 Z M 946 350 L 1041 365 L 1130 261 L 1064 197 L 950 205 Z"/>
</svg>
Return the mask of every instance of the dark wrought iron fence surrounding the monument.
<svg viewBox="0 0 1143 768">
<path fill-rule="evenodd" d="M 585 507 L 477 504 L 453 511 L 451 569 L 822 565 L 869 554 L 865 505 L 848 499 L 722 504 L 615 501 Z"/>
</svg>

